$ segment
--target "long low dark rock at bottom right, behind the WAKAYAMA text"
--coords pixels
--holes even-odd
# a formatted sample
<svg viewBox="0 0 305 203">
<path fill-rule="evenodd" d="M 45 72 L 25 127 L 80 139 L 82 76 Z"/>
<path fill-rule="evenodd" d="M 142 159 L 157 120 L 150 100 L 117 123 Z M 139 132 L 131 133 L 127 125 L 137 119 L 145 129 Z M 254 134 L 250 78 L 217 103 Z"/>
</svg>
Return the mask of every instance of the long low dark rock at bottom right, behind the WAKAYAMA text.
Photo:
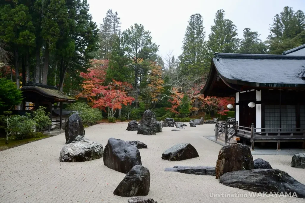
<svg viewBox="0 0 305 203">
<path fill-rule="evenodd" d="M 253 192 L 283 192 L 298 198 L 305 198 L 305 185 L 301 184 L 285 171 L 279 169 L 253 169 L 232 171 L 223 174 L 219 182 L 229 187 Z M 293 193 L 296 192 L 296 195 Z"/>
</svg>

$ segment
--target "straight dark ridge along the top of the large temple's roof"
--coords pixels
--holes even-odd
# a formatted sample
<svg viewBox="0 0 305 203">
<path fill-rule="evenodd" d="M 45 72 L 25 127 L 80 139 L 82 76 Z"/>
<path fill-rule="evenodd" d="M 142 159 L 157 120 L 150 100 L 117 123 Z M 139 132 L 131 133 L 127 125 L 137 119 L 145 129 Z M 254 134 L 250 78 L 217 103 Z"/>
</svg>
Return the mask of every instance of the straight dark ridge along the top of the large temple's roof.
<svg viewBox="0 0 305 203">
<path fill-rule="evenodd" d="M 215 52 L 215 58 L 240 59 L 305 59 L 305 56 L 275 55 L 275 54 L 229 54 Z"/>
</svg>

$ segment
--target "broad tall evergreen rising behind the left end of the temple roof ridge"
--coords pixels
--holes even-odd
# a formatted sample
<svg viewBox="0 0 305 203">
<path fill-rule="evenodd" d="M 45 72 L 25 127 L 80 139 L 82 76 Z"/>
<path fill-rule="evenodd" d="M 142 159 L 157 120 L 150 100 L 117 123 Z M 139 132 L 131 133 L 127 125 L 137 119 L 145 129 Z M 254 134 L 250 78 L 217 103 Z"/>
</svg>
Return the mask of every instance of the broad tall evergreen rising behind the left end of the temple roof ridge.
<svg viewBox="0 0 305 203">
<path fill-rule="evenodd" d="M 237 28 L 231 20 L 224 19 L 224 10 L 218 10 L 211 26 L 208 47 L 210 56 L 214 52 L 236 53 L 239 47 Z"/>
</svg>

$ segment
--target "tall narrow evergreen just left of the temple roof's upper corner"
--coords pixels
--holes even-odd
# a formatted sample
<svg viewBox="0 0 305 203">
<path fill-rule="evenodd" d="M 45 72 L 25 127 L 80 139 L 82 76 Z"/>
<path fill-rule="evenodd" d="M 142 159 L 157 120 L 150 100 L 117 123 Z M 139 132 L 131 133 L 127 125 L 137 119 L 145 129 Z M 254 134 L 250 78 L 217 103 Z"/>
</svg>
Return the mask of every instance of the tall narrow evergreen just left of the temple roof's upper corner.
<svg viewBox="0 0 305 203">
<path fill-rule="evenodd" d="M 183 39 L 182 54 L 180 56 L 181 73 L 190 76 L 202 75 L 206 57 L 204 44 L 203 18 L 197 13 L 192 15 L 188 21 L 188 26 Z"/>
</svg>

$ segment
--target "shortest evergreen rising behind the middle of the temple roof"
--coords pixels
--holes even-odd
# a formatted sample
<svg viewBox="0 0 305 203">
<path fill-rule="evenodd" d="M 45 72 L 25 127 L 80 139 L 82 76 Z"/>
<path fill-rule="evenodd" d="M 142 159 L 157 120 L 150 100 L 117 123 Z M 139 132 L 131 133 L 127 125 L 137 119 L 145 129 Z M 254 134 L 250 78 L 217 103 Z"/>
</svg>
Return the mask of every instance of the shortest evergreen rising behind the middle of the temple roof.
<svg viewBox="0 0 305 203">
<path fill-rule="evenodd" d="M 267 45 L 258 38 L 259 36 L 257 32 L 252 32 L 250 28 L 245 28 L 239 52 L 241 54 L 266 54 Z"/>
</svg>

